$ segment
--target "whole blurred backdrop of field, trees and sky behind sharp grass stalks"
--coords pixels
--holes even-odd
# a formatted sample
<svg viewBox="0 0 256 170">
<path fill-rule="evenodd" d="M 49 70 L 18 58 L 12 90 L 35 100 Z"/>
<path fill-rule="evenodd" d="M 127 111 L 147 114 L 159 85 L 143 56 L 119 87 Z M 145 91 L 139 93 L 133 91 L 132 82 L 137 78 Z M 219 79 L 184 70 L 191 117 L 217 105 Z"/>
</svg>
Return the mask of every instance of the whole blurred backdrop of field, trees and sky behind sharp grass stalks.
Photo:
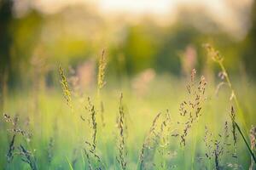
<svg viewBox="0 0 256 170">
<path fill-rule="evenodd" d="M 84 105 L 91 96 L 99 109 L 96 112 L 102 114 L 98 115 L 97 147 L 102 150 L 100 154 L 108 169 L 117 169 L 115 125 L 122 92 L 131 132 L 127 169 L 136 169 L 138 150 L 156 113 L 168 108 L 174 122 L 179 122 L 180 103 L 193 98 L 188 96 L 186 86 L 195 68 L 196 80 L 201 75 L 207 80 L 203 117 L 193 127 L 190 145 L 184 148 L 186 154 L 177 140 L 170 144 L 178 152 L 177 165 L 185 165 L 179 168 L 191 169 L 189 166 L 194 165 L 195 169 L 206 169 L 199 168 L 201 162 L 194 162 L 197 157 L 206 157 L 202 143 L 205 125 L 218 132 L 225 121 L 230 123 L 234 94 L 225 86 L 219 65 L 207 57 L 203 43 L 212 44 L 224 56 L 225 68 L 241 101 L 241 108 L 237 104 L 235 111 L 244 112 L 244 117 L 237 120 L 246 125 L 242 129 L 249 134 L 251 125 L 256 124 L 255 1 L 0 0 L 0 114 L 17 114 L 20 127 L 26 124 L 25 128 L 32 129 L 32 140 L 26 143 L 37 150 L 34 153 L 38 167 L 67 169 L 66 156 L 73 167 L 79 160 L 76 166 L 82 169 L 79 150 L 84 137 L 90 136 L 90 123 L 84 123 L 79 116 L 89 117 L 87 111 L 84 113 Z M 107 84 L 99 97 L 96 77 L 103 49 L 108 60 L 104 80 Z M 59 65 L 70 85 L 74 111 L 68 108 L 61 92 Z M 219 90 L 220 85 L 224 87 Z M 100 116 L 106 119 L 103 121 Z M 1 158 L 8 153 L 12 134 L 6 129 L 8 122 L 0 122 Z M 68 138 L 63 139 L 67 134 Z M 46 152 L 47 148 L 52 150 L 49 146 L 53 139 L 54 151 Z M 235 160 L 236 165 L 248 169 L 250 155 L 241 138 L 238 139 L 238 159 L 223 156 L 223 165 Z M 22 141 L 19 144 L 24 144 Z M 48 160 L 53 160 L 52 164 Z M 18 156 L 12 164 L 0 159 L 0 167 L 28 169 Z"/>
</svg>

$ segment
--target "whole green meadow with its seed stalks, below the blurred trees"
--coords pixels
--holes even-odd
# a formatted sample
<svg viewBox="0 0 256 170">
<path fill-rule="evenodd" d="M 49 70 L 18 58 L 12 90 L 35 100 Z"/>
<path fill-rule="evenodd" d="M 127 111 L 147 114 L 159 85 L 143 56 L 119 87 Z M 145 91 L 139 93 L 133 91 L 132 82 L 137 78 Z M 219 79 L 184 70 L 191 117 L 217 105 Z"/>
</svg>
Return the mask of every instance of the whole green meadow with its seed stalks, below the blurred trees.
<svg viewBox="0 0 256 170">
<path fill-rule="evenodd" d="M 54 88 L 4 99 L 1 169 L 255 169 L 256 84 L 205 48 L 217 73 L 137 77 L 136 88 L 106 77 L 108 55 L 90 89 L 55 65 Z"/>
</svg>

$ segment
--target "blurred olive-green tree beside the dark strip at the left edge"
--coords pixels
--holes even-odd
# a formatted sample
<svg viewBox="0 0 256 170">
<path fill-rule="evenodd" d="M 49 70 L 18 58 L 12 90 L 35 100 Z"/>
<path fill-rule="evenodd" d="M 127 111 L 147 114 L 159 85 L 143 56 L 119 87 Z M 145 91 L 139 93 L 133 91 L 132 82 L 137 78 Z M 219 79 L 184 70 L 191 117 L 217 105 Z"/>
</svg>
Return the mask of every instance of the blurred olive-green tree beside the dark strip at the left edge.
<svg viewBox="0 0 256 170">
<path fill-rule="evenodd" d="M 43 53 L 36 52 L 38 47 L 41 47 L 40 33 L 42 24 L 41 14 L 33 9 L 30 9 L 21 18 L 15 18 L 12 21 L 9 29 L 13 36 L 9 73 L 9 85 L 12 87 L 27 86 L 31 82 L 30 76 L 33 74 L 32 58 L 44 59 Z M 42 49 L 41 51 L 44 50 Z"/>
</svg>

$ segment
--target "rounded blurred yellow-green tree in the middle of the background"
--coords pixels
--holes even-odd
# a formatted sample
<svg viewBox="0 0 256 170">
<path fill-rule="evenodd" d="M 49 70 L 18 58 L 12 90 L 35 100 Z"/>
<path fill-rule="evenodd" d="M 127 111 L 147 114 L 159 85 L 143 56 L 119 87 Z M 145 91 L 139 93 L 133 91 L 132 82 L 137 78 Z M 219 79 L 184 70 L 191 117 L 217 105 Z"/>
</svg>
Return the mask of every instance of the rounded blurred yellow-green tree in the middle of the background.
<svg viewBox="0 0 256 170">
<path fill-rule="evenodd" d="M 120 49 L 125 55 L 125 67 L 128 74 L 135 74 L 154 66 L 154 57 L 159 49 L 160 28 L 150 21 L 144 21 L 137 26 L 128 26 L 126 39 Z"/>
</svg>

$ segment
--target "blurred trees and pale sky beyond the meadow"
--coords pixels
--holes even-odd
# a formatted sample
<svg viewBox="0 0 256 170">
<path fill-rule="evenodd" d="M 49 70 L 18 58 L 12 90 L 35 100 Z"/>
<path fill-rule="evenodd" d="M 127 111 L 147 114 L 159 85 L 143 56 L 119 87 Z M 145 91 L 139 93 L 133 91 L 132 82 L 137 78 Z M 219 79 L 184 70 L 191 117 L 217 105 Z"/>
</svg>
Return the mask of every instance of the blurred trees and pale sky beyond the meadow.
<svg viewBox="0 0 256 170">
<path fill-rule="evenodd" d="M 255 13 L 253 0 L 1 0 L 1 96 L 50 88 L 60 64 L 90 86 L 103 48 L 108 79 L 118 82 L 207 71 L 205 42 L 224 55 L 230 74 L 253 81 Z"/>
</svg>

